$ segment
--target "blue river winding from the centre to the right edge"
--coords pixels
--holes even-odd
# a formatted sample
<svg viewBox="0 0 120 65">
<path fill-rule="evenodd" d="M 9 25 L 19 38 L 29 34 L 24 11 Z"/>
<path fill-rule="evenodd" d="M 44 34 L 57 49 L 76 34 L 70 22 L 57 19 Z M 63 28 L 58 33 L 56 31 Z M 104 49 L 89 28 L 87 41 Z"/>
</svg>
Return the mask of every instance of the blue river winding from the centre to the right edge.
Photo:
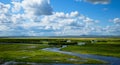
<svg viewBox="0 0 120 65">
<path fill-rule="evenodd" d="M 115 58 L 115 57 L 98 56 L 98 55 L 91 55 L 91 54 L 78 54 L 73 52 L 61 51 L 60 48 L 45 48 L 42 50 L 59 52 L 59 53 L 69 54 L 69 55 L 73 55 L 81 58 L 91 58 L 91 59 L 97 59 L 97 60 L 108 62 L 108 64 L 105 64 L 105 65 L 120 65 L 120 58 Z M 87 65 L 87 64 L 81 64 L 81 65 Z M 104 65 L 104 64 L 88 64 L 88 65 Z"/>
</svg>

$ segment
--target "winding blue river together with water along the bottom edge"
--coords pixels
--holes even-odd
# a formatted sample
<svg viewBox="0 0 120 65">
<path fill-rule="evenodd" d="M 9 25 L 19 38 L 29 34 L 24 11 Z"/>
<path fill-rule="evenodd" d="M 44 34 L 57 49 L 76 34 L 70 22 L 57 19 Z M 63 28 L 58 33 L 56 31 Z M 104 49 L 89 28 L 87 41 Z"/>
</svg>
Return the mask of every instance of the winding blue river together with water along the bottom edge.
<svg viewBox="0 0 120 65">
<path fill-rule="evenodd" d="M 73 55 L 81 58 L 90 58 L 90 59 L 96 59 L 96 60 L 102 60 L 108 62 L 108 64 L 59 64 L 59 63 L 31 63 L 31 62 L 14 62 L 14 61 L 9 61 L 5 62 L 0 65 L 120 65 L 120 58 L 115 58 L 115 57 L 106 57 L 106 56 L 98 56 L 98 55 L 91 55 L 91 54 L 78 54 L 78 53 L 73 53 L 73 52 L 67 52 L 67 51 L 61 51 L 61 48 L 44 48 L 42 50 L 44 51 L 51 51 L 51 52 L 59 52 L 63 54 L 68 54 L 68 55 Z"/>
</svg>

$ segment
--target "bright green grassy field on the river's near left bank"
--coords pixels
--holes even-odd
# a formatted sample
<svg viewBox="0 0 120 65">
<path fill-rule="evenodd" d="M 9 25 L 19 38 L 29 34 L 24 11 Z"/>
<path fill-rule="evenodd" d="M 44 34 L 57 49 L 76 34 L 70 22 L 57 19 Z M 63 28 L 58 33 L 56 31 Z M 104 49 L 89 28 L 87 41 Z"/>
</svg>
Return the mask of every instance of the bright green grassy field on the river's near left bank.
<svg viewBox="0 0 120 65">
<path fill-rule="evenodd" d="M 0 63 L 7 61 L 35 63 L 72 63 L 99 64 L 99 60 L 82 59 L 76 56 L 43 51 L 49 47 L 45 44 L 0 44 Z"/>
</svg>

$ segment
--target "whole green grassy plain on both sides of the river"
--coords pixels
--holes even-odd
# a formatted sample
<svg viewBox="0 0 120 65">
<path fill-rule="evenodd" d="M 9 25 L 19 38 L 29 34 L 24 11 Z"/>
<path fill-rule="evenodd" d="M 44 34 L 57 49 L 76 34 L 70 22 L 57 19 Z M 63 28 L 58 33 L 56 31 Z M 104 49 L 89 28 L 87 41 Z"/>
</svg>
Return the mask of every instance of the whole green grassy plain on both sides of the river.
<svg viewBox="0 0 120 65">
<path fill-rule="evenodd" d="M 92 40 L 96 42 L 91 43 Z M 77 45 L 81 42 L 86 44 Z M 83 59 L 41 50 L 57 45 L 59 45 L 58 47 L 68 45 L 68 47 L 61 49 L 63 51 L 120 57 L 120 38 L 1 38 L 0 63 L 6 61 L 72 64 L 104 63 L 99 60 Z"/>
</svg>

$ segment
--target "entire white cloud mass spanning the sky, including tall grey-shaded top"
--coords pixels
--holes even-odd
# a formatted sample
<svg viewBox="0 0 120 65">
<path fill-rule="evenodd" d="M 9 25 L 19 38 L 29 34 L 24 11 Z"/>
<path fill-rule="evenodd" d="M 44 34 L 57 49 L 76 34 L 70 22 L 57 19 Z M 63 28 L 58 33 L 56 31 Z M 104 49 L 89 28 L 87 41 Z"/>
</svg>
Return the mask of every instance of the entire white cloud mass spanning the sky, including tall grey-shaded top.
<svg viewBox="0 0 120 65">
<path fill-rule="evenodd" d="M 98 20 L 78 11 L 53 12 L 49 0 L 14 0 L 12 4 L 13 7 L 0 3 L 0 36 L 119 35 L 120 33 L 120 25 L 103 28 L 97 25 Z M 120 18 L 111 21 L 120 23 Z"/>
</svg>

